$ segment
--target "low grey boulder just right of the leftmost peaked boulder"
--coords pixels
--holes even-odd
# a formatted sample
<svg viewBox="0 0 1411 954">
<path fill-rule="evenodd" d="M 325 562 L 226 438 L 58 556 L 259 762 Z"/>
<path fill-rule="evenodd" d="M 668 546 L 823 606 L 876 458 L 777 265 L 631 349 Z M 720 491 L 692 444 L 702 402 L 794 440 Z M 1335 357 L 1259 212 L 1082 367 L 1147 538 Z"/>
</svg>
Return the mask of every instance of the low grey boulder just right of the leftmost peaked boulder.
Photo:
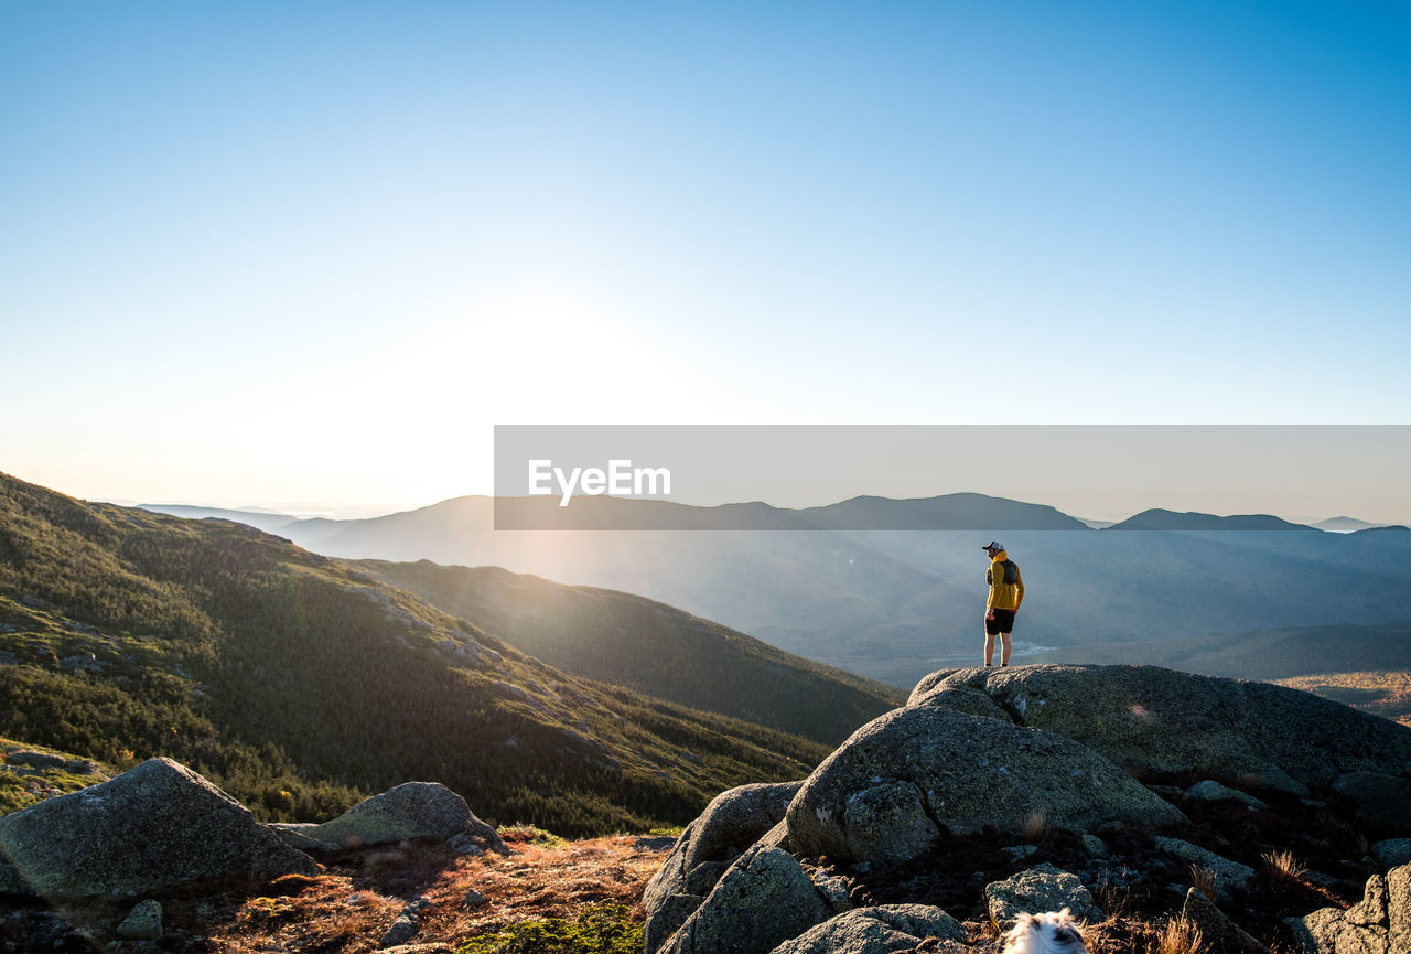
<svg viewBox="0 0 1411 954">
<path fill-rule="evenodd" d="M 291 840 L 330 845 L 375 845 L 406 838 L 440 838 L 450 841 L 460 835 L 481 838 L 487 848 L 508 854 L 495 830 L 476 817 L 476 813 L 444 785 L 436 782 L 406 782 L 351 809 L 323 824 L 301 824 L 285 830 Z"/>
</svg>

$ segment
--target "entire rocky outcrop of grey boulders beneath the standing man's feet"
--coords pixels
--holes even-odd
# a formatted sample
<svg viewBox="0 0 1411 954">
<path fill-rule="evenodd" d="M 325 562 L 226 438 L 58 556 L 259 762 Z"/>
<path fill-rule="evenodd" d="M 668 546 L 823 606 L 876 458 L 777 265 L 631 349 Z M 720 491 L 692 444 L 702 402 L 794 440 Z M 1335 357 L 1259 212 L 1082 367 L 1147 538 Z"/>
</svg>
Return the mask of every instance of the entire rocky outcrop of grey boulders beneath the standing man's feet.
<svg viewBox="0 0 1411 954">
<path fill-rule="evenodd" d="M 943 670 L 801 785 L 718 796 L 646 889 L 646 954 L 992 950 L 1060 906 L 1112 931 L 1109 905 L 1187 912 L 1209 951 L 1404 954 L 1411 867 L 1377 857 L 1411 817 L 1377 793 L 1408 785 L 1411 728 L 1297 690 Z"/>
</svg>

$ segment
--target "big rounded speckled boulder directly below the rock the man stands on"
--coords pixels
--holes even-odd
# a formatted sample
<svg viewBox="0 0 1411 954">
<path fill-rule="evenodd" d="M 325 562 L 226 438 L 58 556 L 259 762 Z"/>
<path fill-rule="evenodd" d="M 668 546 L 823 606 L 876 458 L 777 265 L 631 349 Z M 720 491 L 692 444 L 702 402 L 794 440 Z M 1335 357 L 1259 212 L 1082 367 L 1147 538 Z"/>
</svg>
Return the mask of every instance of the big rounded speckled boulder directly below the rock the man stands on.
<svg viewBox="0 0 1411 954">
<path fill-rule="evenodd" d="M 906 862 L 943 828 L 1017 831 L 1038 813 L 1074 831 L 1185 820 L 1068 738 L 921 704 L 858 730 L 809 776 L 787 821 L 803 855 Z"/>
</svg>

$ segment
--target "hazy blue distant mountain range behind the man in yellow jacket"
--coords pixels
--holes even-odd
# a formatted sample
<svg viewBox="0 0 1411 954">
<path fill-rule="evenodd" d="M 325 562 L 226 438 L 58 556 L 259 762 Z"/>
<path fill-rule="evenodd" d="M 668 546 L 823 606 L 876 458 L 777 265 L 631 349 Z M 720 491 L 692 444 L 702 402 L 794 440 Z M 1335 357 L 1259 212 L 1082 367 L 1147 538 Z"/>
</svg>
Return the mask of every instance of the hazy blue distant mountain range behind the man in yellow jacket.
<svg viewBox="0 0 1411 954">
<path fill-rule="evenodd" d="M 522 508 L 522 519 L 555 501 L 499 505 L 501 518 Z M 580 526 L 636 529 L 495 531 L 495 501 L 461 497 L 272 532 L 330 556 L 501 566 L 635 593 L 900 687 L 976 660 L 979 546 L 995 536 L 1029 587 L 1015 631 L 1022 653 L 1411 618 L 1411 532 L 1395 528 L 1325 532 L 1267 515 L 1151 509 L 1095 529 L 982 494 L 806 509 L 600 497 L 576 500 L 573 511 Z M 677 529 L 650 529 L 660 526 Z"/>
</svg>

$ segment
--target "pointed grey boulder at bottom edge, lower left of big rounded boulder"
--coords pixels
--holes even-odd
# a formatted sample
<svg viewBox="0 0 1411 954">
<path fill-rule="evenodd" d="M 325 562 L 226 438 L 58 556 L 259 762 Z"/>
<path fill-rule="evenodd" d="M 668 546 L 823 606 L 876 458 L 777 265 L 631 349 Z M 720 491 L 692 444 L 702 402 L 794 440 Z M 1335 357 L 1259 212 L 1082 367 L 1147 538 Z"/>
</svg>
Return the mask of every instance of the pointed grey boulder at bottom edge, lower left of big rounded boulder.
<svg viewBox="0 0 1411 954">
<path fill-rule="evenodd" d="M 832 913 L 793 855 L 756 847 L 729 867 L 662 951 L 768 954 Z"/>
</svg>

